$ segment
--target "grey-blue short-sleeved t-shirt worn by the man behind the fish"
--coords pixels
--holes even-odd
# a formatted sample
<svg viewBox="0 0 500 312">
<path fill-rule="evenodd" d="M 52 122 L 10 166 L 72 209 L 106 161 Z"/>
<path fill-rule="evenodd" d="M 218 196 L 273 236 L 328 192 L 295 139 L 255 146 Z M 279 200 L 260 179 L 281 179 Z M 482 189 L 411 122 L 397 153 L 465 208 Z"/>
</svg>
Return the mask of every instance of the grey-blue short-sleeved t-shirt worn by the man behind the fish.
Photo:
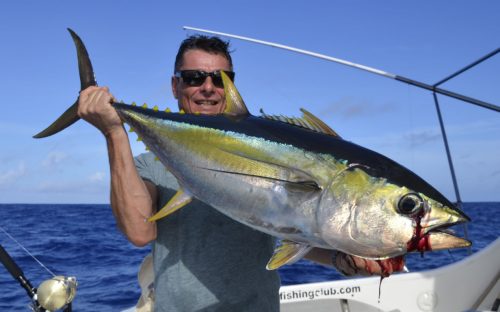
<svg viewBox="0 0 500 312">
<path fill-rule="evenodd" d="M 135 162 L 158 188 L 159 207 L 176 179 L 152 153 Z M 155 311 L 279 311 L 280 279 L 266 264 L 275 240 L 193 200 L 157 221 L 153 243 Z"/>
</svg>

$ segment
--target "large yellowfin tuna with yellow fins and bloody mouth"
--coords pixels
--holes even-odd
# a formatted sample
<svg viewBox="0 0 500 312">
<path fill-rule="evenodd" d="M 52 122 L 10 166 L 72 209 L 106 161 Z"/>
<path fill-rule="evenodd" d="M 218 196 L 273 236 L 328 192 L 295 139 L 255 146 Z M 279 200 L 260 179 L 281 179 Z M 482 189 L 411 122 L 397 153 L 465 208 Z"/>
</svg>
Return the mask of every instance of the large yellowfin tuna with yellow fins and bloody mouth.
<svg viewBox="0 0 500 312">
<path fill-rule="evenodd" d="M 96 85 L 85 47 L 70 33 L 82 89 Z M 227 108 L 217 116 L 113 103 L 179 182 L 176 195 L 151 221 L 197 198 L 282 239 L 268 269 L 292 263 L 313 247 L 385 259 L 470 245 L 443 231 L 469 218 L 416 174 L 343 140 L 306 110 L 302 118 L 253 116 L 224 74 L 223 80 Z M 35 137 L 78 120 L 76 106 Z"/>
</svg>

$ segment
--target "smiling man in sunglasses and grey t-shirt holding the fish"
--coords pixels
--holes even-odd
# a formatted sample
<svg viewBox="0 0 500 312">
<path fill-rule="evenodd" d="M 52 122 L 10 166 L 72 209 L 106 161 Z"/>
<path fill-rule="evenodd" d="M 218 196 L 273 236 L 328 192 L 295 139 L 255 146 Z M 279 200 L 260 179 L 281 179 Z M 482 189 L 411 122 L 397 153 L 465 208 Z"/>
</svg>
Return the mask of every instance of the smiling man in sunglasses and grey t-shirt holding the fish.
<svg viewBox="0 0 500 312">
<path fill-rule="evenodd" d="M 179 48 L 172 92 L 186 113 L 220 114 L 225 108 L 220 71 L 232 74 L 228 43 L 195 36 Z M 153 242 L 155 311 L 278 311 L 276 271 L 267 271 L 275 241 L 193 201 L 156 223 L 145 222 L 175 194 L 175 178 L 151 153 L 132 156 L 128 136 L 106 87 L 81 92 L 78 114 L 105 136 L 111 170 L 111 206 L 117 224 L 136 246 Z M 332 251 L 308 258 L 332 265 Z M 336 253 L 346 274 L 380 273 L 375 261 Z M 387 267 L 385 270 L 399 270 Z"/>
</svg>

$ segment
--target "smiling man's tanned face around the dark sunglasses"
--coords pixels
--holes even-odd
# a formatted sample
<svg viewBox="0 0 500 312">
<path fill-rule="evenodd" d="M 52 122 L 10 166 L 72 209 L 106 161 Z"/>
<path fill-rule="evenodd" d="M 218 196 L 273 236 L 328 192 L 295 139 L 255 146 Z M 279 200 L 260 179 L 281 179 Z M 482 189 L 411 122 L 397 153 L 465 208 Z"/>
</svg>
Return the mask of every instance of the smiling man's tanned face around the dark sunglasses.
<svg viewBox="0 0 500 312">
<path fill-rule="evenodd" d="M 220 54 L 211 54 L 203 50 L 188 50 L 184 53 L 180 70 L 216 70 L 230 71 L 229 61 Z M 186 113 L 204 115 L 220 114 L 226 107 L 224 89 L 214 86 L 212 77 L 207 77 L 200 86 L 189 86 L 182 78 L 172 77 L 172 92 Z"/>
</svg>

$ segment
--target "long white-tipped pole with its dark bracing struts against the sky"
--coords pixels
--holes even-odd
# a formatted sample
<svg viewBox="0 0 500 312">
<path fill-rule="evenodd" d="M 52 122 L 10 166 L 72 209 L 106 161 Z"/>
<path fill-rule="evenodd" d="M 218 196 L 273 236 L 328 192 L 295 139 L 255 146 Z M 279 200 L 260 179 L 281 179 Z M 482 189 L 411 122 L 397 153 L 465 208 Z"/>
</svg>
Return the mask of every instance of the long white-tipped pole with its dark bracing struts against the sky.
<svg viewBox="0 0 500 312">
<path fill-rule="evenodd" d="M 455 189 L 455 196 L 457 198 L 457 206 L 460 209 L 462 208 L 462 199 L 460 198 L 460 193 L 458 191 L 458 183 L 457 183 L 456 176 L 455 176 L 455 169 L 453 167 L 453 161 L 451 159 L 451 153 L 450 153 L 450 149 L 449 149 L 449 146 L 448 146 L 448 139 L 446 137 L 446 131 L 444 129 L 443 119 L 441 117 L 441 110 L 439 109 L 439 103 L 438 103 L 438 99 L 437 99 L 436 93 L 439 93 L 439 94 L 442 94 L 442 95 L 446 95 L 446 96 L 449 96 L 449 97 L 452 97 L 452 98 L 455 98 L 455 99 L 458 99 L 458 100 L 461 100 L 461 101 L 465 101 L 465 102 L 468 102 L 468 103 L 471 103 L 471 104 L 474 104 L 474 105 L 478 105 L 478 106 L 481 106 L 481 107 L 484 107 L 484 108 L 488 108 L 488 109 L 500 112 L 500 106 L 497 106 L 497 105 L 494 105 L 494 104 L 491 104 L 491 103 L 487 103 L 487 102 L 484 102 L 484 101 L 481 101 L 481 100 L 477 100 L 477 99 L 474 99 L 474 98 L 471 98 L 471 97 L 468 97 L 468 96 L 465 96 L 465 95 L 462 95 L 462 94 L 451 92 L 451 91 L 448 91 L 448 90 L 445 90 L 445 89 L 442 89 L 442 88 L 438 88 L 439 85 L 445 83 L 446 81 L 448 81 L 448 80 L 450 80 L 450 79 L 458 76 L 459 74 L 465 72 L 466 70 L 468 70 L 468 69 L 470 69 L 470 68 L 478 65 L 479 63 L 487 60 L 488 58 L 494 56 L 495 54 L 497 54 L 498 52 L 500 52 L 500 48 L 495 49 L 494 51 L 488 53 L 487 55 L 483 56 L 482 58 L 478 59 L 477 61 L 471 63 L 470 65 L 468 65 L 468 66 L 460 69 L 459 71 L 455 72 L 454 74 L 452 74 L 452 75 L 450 75 L 450 76 L 442 79 L 438 83 L 436 83 L 434 85 L 429 85 L 429 84 L 426 84 L 426 83 L 423 83 L 423 82 L 420 82 L 420 81 L 416 81 L 416 80 L 413 80 L 413 79 L 410 79 L 410 78 L 406 78 L 406 77 L 399 76 L 399 75 L 396 75 L 396 74 L 391 74 L 389 72 L 386 72 L 386 71 L 383 71 L 383 70 L 380 70 L 380 69 L 376 69 L 376 68 L 373 68 L 373 67 L 369 67 L 369 66 L 365 66 L 365 65 L 361 65 L 361 64 L 356 64 L 356 63 L 353 63 L 353 62 L 350 62 L 350 61 L 346 61 L 346 60 L 343 60 L 343 59 L 339 59 L 339 58 L 336 58 L 336 57 L 332 57 L 332 56 L 328 56 L 328 55 L 324 55 L 324 54 L 320 54 L 320 53 L 316 53 L 316 52 L 311 52 L 311 51 L 307 51 L 307 50 L 303 50 L 303 49 L 298 49 L 298 48 L 286 46 L 286 45 L 279 44 L 279 43 L 274 43 L 274 42 L 269 42 L 269 41 L 264 41 L 264 40 L 259 40 L 259 39 L 253 39 L 253 38 L 249 38 L 249 37 L 243 37 L 243 36 L 238 36 L 238 35 L 233 35 L 233 34 L 218 32 L 218 31 L 212 31 L 212 30 L 207 30 L 207 29 L 195 28 L 195 27 L 190 27 L 190 26 L 184 26 L 183 29 L 185 29 L 185 30 L 192 30 L 192 31 L 198 31 L 198 32 L 203 32 L 203 33 L 209 33 L 209 34 L 213 34 L 213 35 L 218 35 L 218 36 L 223 36 L 223 37 L 229 37 L 229 38 L 234 38 L 234 39 L 240 39 L 240 40 L 244 40 L 244 41 L 250 41 L 250 42 L 254 42 L 254 43 L 258 43 L 258 44 L 262 44 L 262 45 L 267 45 L 267 46 L 271 46 L 271 47 L 275 47 L 275 48 L 279 48 L 279 49 L 284 49 L 284 50 L 288 50 L 288 51 L 292 51 L 292 52 L 296 52 L 296 53 L 300 53 L 300 54 L 305 54 L 305 55 L 317 57 L 317 58 L 320 58 L 320 59 L 324 59 L 324 60 L 327 60 L 327 61 L 339 63 L 339 64 L 342 64 L 342 65 L 354 67 L 354 68 L 357 68 L 357 69 L 360 69 L 360 70 L 364 70 L 364 71 L 367 71 L 367 72 L 370 72 L 370 73 L 373 73 L 373 74 L 377 74 L 377 75 L 380 75 L 380 76 L 384 76 L 384 77 L 387 77 L 387 78 L 398 80 L 400 82 L 404 82 L 404 83 L 407 83 L 407 84 L 410 84 L 410 85 L 413 85 L 413 86 L 416 86 L 416 87 L 419 87 L 419 88 L 422 88 L 422 89 L 426 89 L 426 90 L 432 91 L 432 94 L 434 96 L 434 103 L 436 105 L 436 111 L 437 111 L 437 115 L 438 115 L 438 119 L 439 119 L 439 124 L 441 126 L 441 133 L 443 135 L 443 141 L 444 141 L 444 146 L 445 146 L 445 150 L 446 150 L 446 156 L 447 156 L 447 159 L 448 159 L 448 165 L 449 165 L 450 171 L 451 171 L 451 178 L 452 178 L 453 186 L 454 186 L 454 189 Z M 464 224 L 464 235 L 465 235 L 466 238 L 468 237 L 468 233 L 467 232 L 468 232 L 467 231 L 467 225 Z M 468 253 L 471 254 L 471 248 L 470 247 L 468 249 Z"/>
</svg>

